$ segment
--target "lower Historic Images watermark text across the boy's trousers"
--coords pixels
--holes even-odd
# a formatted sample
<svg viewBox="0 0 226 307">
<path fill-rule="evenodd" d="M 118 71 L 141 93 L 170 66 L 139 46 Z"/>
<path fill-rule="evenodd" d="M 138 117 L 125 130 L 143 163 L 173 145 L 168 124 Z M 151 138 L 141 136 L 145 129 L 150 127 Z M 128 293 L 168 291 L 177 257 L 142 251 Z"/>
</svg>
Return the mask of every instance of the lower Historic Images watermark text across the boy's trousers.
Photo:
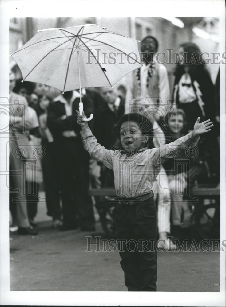
<svg viewBox="0 0 226 307">
<path fill-rule="evenodd" d="M 101 239 L 101 236 L 86 236 L 86 251 L 87 252 L 154 252 L 154 251 L 174 251 L 174 252 L 219 252 L 226 251 L 226 240 L 220 244 L 216 239 L 203 239 L 197 242 L 195 239 L 191 243 L 188 240 L 175 240 L 176 249 L 158 247 L 159 242 L 165 244 L 165 240 L 125 240 L 125 239 Z M 172 237 L 169 237 L 172 239 Z M 91 241 L 93 239 L 94 241 Z"/>
</svg>

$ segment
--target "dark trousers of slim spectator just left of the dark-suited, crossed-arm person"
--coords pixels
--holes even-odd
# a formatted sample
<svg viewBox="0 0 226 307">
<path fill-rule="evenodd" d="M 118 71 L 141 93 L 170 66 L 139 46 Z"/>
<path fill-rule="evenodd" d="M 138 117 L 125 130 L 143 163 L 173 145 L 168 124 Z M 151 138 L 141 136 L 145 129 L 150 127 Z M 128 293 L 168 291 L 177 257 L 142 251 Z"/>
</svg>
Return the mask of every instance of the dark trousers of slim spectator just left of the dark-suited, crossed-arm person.
<svg viewBox="0 0 226 307">
<path fill-rule="evenodd" d="M 42 141 L 42 146 L 46 148 L 46 155 L 42 158 L 42 172 L 47 215 L 52 216 L 53 220 L 60 220 L 59 165 L 57 165 L 56 161 L 58 149 L 54 142 L 48 143 L 47 140 Z"/>
</svg>

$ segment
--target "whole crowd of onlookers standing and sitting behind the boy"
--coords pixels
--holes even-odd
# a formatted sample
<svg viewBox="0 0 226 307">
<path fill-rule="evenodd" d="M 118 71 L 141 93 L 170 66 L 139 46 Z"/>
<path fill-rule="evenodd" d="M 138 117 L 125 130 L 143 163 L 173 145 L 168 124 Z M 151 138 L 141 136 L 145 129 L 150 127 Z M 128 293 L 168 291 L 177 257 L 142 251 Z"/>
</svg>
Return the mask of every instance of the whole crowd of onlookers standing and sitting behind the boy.
<svg viewBox="0 0 226 307">
<path fill-rule="evenodd" d="M 191 153 L 185 152 L 183 161 L 175 156 L 166 161 L 154 183 L 158 231 L 160 238 L 166 239 L 170 232 L 176 235 L 181 228 L 189 227 L 185 191 L 197 184 L 216 186 L 220 182 L 220 76 L 213 85 L 204 64 L 177 64 L 171 96 L 166 68 L 155 62 L 157 50 L 156 38 L 143 39 L 141 52 L 149 57 L 144 58 L 144 67 L 129 75 L 125 97 L 116 87 L 86 88 L 81 94 L 85 115 L 94 115 L 89 126 L 107 149 L 119 144 L 117 121 L 133 111 L 133 99 L 142 102 L 139 112 L 153 125 L 153 143 L 148 146 L 159 147 L 187 134 L 198 116 L 213 121 L 211 133 L 200 138 Z M 193 43 L 180 45 L 180 52 L 187 52 L 188 57 L 195 52 L 197 58 L 200 54 Z M 83 148 L 81 128 L 76 122 L 80 93 L 62 93 L 43 84 L 21 81 L 10 72 L 10 230 L 37 234 L 35 217 L 41 187 L 53 227 L 94 231 L 93 200 L 88 190 L 113 187 L 114 175 L 90 160 Z M 171 105 L 166 103 L 169 99 Z M 163 106 L 167 106 L 165 115 L 161 112 Z M 99 198 L 95 201 L 98 203 Z"/>
</svg>

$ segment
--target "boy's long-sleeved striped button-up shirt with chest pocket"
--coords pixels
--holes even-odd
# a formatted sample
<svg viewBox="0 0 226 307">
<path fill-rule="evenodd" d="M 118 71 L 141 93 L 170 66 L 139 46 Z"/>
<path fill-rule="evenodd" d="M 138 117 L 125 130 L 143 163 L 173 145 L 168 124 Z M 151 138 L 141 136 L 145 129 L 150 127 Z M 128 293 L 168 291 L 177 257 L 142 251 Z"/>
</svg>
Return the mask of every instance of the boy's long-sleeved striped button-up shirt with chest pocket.
<svg viewBox="0 0 226 307">
<path fill-rule="evenodd" d="M 107 150 L 93 136 L 89 128 L 82 129 L 81 137 L 84 148 L 89 152 L 92 159 L 102 162 L 114 171 L 114 184 L 117 196 L 136 197 L 150 192 L 161 165 L 173 153 L 180 154 L 186 148 L 195 143 L 199 136 L 193 137 L 192 133 L 178 140 L 161 145 L 159 148 L 143 148 L 136 154 L 130 155 L 122 150 Z"/>
</svg>

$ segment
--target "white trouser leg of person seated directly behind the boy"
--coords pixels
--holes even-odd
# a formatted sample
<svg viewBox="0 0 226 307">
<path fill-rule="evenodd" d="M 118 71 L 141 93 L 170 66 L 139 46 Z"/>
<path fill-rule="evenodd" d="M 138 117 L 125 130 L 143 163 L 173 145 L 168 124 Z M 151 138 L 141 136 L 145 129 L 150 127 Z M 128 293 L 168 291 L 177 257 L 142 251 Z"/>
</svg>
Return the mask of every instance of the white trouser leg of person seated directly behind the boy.
<svg viewBox="0 0 226 307">
<path fill-rule="evenodd" d="M 170 192 L 168 178 L 163 167 L 154 181 L 153 192 L 155 201 L 158 196 L 158 232 L 170 233 Z"/>
</svg>

